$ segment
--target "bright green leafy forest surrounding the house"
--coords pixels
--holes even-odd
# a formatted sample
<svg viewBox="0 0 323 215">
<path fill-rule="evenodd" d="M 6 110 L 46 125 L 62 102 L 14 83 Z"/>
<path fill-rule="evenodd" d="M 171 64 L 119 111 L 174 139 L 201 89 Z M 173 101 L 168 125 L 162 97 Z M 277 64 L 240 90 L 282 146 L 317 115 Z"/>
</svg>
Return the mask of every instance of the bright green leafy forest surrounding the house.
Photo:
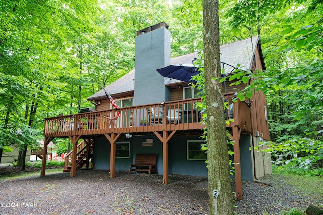
<svg viewBox="0 0 323 215">
<path fill-rule="evenodd" d="M 134 68 L 136 31 L 166 22 L 172 57 L 203 49 L 202 1 L 4 0 L 0 9 L 0 155 L 43 139 L 44 118 L 79 113 L 87 97 Z M 266 70 L 240 92 L 267 95 L 276 164 L 322 167 L 323 3 L 223 0 L 220 43 L 259 35 Z M 65 141 L 56 142 L 65 152 Z M 293 157 L 295 153 L 299 157 Z"/>
</svg>

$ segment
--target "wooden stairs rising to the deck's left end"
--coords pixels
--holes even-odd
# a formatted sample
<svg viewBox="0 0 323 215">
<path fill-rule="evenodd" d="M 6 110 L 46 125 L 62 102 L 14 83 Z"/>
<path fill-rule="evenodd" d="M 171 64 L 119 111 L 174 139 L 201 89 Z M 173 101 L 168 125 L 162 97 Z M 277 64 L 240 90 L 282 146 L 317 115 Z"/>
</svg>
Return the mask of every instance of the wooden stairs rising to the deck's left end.
<svg viewBox="0 0 323 215">
<path fill-rule="evenodd" d="M 77 153 L 76 153 L 76 170 L 81 168 L 89 169 L 89 161 L 93 157 L 93 149 L 94 149 L 94 139 L 89 139 L 89 142 L 82 140 L 77 145 Z M 64 169 L 63 172 L 71 172 L 72 169 L 72 151 L 66 154 L 64 157 Z M 85 167 L 84 167 L 85 165 Z"/>
</svg>

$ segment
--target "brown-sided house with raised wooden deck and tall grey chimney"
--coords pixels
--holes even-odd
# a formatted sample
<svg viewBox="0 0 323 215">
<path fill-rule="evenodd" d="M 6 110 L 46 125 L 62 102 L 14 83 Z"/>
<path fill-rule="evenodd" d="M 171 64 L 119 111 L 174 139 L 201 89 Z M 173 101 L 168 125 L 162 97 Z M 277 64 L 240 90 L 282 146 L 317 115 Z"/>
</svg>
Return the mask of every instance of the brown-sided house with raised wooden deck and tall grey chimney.
<svg viewBox="0 0 323 215">
<path fill-rule="evenodd" d="M 45 119 L 45 142 L 53 138 L 69 138 L 73 150 L 66 155 L 65 171 L 75 176 L 89 159 L 96 169 L 128 170 L 137 154 L 157 154 L 157 169 L 168 184 L 169 174 L 207 176 L 204 142 L 200 136 L 205 125 L 194 107 L 201 98 L 189 82 L 161 76 L 156 69 L 170 64 L 192 63 L 198 53 L 171 59 L 171 36 L 164 22 L 137 31 L 135 69 L 105 87 L 119 108 L 112 108 L 104 90 L 88 98 L 95 110 L 83 109 L 80 114 Z M 240 64 L 243 70 L 265 70 L 259 38 L 252 37 L 220 47 L 225 74 L 230 75 Z M 236 144 L 233 146 L 236 194 L 242 198 L 241 180 L 255 180 L 271 173 L 270 158 L 257 150 L 249 150 L 269 140 L 266 97 L 254 92 L 252 100 L 233 103 L 235 88 L 223 83 L 225 100 L 230 106 L 227 125 Z M 156 117 L 157 116 L 157 117 Z M 146 126 L 141 126 L 146 122 Z M 83 141 L 79 141 L 83 139 Z M 80 143 L 79 143 L 80 142 Z M 44 153 L 46 151 L 44 147 Z M 45 160 L 41 176 L 45 175 Z M 160 171 L 162 170 L 162 171 Z"/>
</svg>

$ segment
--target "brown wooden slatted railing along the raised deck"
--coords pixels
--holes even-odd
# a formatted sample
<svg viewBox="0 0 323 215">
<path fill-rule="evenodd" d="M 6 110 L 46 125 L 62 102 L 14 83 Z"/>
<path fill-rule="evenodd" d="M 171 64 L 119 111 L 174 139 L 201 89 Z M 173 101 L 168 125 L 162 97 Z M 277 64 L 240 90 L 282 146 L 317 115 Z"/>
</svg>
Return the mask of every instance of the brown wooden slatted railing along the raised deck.
<svg viewBox="0 0 323 215">
<path fill-rule="evenodd" d="M 225 97 L 230 105 L 233 94 L 226 94 Z M 201 123 L 201 111 L 195 108 L 197 102 L 201 102 L 201 99 L 184 99 L 46 118 L 44 135 L 47 137 L 67 137 L 72 135 L 90 136 L 106 133 L 202 129 L 205 125 Z M 227 114 L 227 116 L 231 118 L 231 115 L 235 119 L 239 119 L 235 122 L 239 126 L 241 124 L 243 126 L 248 125 L 250 124 L 250 114 L 246 113 L 248 111 L 250 113 L 250 108 L 247 107 L 246 103 L 240 103 L 245 102 L 237 102 L 239 105 L 234 103 L 232 114 Z M 237 108 L 242 110 L 240 111 Z M 117 115 L 120 116 L 117 117 Z M 244 122 L 240 123 L 241 120 Z"/>
</svg>

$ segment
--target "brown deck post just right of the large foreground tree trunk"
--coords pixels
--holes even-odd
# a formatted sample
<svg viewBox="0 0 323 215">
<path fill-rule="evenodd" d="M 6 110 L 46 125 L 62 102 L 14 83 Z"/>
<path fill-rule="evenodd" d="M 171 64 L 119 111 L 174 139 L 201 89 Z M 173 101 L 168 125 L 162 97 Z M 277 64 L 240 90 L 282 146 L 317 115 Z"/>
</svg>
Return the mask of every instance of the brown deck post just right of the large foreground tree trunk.
<svg viewBox="0 0 323 215">
<path fill-rule="evenodd" d="M 235 142 L 233 145 L 234 151 L 234 170 L 235 170 L 235 183 L 236 183 L 236 198 L 241 200 L 242 199 L 242 182 L 241 182 L 241 163 L 240 163 L 240 133 L 241 129 L 238 127 L 232 128 L 232 140 Z"/>
</svg>

